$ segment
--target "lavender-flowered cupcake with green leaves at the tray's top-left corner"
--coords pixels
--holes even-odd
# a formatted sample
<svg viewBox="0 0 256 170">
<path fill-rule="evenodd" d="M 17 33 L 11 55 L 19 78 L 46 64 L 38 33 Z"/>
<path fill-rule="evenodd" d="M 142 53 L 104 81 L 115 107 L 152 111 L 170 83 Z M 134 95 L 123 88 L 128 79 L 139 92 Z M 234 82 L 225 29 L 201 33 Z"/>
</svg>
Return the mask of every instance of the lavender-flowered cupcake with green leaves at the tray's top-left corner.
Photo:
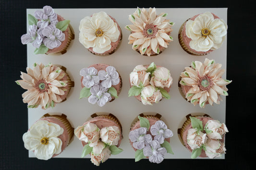
<svg viewBox="0 0 256 170">
<path fill-rule="evenodd" d="M 44 6 L 43 11 L 35 11 L 35 16 L 28 14 L 28 32 L 22 35 L 21 42 L 32 43 L 36 47 L 34 54 L 64 54 L 74 39 L 69 23 L 50 6 Z"/>
</svg>

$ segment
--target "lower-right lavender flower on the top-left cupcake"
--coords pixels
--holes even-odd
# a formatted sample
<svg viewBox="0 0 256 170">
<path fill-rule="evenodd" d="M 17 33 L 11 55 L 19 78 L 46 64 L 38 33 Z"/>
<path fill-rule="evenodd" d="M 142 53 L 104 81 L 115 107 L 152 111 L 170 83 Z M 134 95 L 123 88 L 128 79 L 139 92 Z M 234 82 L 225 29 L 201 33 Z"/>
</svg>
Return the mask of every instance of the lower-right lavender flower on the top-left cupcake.
<svg viewBox="0 0 256 170">
<path fill-rule="evenodd" d="M 43 43 L 49 49 L 59 47 L 61 45 L 61 41 L 64 41 L 65 39 L 65 34 L 63 34 L 61 30 L 56 28 L 55 25 L 49 25 L 44 27 L 44 29 L 42 30 L 42 34 L 44 36 Z"/>
</svg>

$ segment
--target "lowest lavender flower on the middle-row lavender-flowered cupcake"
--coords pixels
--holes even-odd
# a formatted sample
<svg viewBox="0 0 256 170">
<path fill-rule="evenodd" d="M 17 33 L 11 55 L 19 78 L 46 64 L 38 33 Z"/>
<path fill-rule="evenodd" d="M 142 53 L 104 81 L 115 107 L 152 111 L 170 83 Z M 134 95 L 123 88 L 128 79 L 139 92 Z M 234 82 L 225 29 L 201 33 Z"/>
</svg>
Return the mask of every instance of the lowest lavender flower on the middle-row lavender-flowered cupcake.
<svg viewBox="0 0 256 170">
<path fill-rule="evenodd" d="M 101 84 L 94 85 L 90 89 L 91 95 L 88 98 L 88 102 L 91 104 L 97 102 L 100 107 L 104 106 L 112 99 L 110 93 L 107 92 L 108 90 L 108 88 L 101 86 Z"/>
</svg>

